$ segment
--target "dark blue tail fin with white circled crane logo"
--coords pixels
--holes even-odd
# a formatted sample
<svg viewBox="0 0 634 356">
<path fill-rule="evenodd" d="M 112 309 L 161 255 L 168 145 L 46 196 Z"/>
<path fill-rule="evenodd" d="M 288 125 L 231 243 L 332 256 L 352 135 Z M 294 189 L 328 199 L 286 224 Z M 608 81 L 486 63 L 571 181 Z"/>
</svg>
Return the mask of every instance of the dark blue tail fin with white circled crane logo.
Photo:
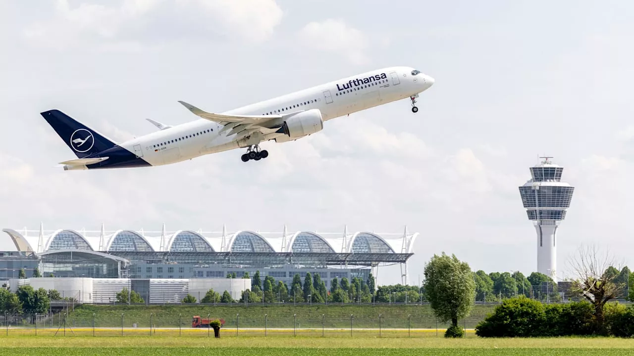
<svg viewBox="0 0 634 356">
<path fill-rule="evenodd" d="M 60 135 L 61 139 L 73 150 L 77 158 L 94 155 L 117 145 L 60 110 L 44 111 L 40 115 L 46 119 L 55 132 Z"/>
</svg>

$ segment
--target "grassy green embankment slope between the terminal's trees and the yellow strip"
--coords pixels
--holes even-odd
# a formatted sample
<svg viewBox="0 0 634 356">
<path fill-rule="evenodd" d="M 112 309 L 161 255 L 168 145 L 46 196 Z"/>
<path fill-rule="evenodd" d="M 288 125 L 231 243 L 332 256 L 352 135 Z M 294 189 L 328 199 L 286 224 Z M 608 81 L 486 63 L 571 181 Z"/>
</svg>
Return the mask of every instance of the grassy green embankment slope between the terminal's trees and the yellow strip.
<svg viewBox="0 0 634 356">
<path fill-rule="evenodd" d="M 484 317 L 493 311 L 495 305 L 476 305 L 469 318 L 467 328 L 475 327 Z M 68 312 L 67 322 L 75 327 L 88 327 L 94 322 L 97 327 L 121 326 L 121 314 L 124 314 L 124 326 L 138 327 L 186 327 L 191 324 L 193 315 L 222 318 L 226 327 L 264 327 L 265 317 L 268 327 L 321 327 L 322 317 L 325 327 L 349 327 L 350 315 L 353 315 L 354 327 L 378 327 L 378 315 L 381 327 L 435 328 L 436 318 L 429 305 L 82 305 Z M 181 317 L 179 319 L 179 314 Z M 238 315 L 239 314 L 239 315 Z M 52 325 L 59 324 L 63 317 L 53 317 Z M 48 321 L 51 325 L 51 321 Z M 460 322 L 464 326 L 464 321 Z M 446 325 L 439 324 L 439 327 Z"/>
</svg>

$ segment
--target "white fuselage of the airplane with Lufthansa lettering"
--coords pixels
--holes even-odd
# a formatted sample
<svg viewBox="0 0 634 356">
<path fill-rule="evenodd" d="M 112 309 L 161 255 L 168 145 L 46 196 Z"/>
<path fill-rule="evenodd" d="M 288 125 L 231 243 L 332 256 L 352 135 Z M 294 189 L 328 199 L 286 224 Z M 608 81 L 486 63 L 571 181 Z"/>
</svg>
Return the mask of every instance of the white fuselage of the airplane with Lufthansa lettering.
<svg viewBox="0 0 634 356">
<path fill-rule="evenodd" d="M 278 98 L 261 101 L 226 111 L 226 115 L 288 115 L 298 111 L 317 109 L 324 121 L 410 98 L 429 88 L 434 80 L 411 67 L 389 67 L 373 70 L 354 77 L 336 80 Z M 385 73 L 380 80 L 375 76 Z M 370 80 L 367 80 L 370 77 Z M 376 77 L 378 78 L 378 77 Z M 254 144 L 245 142 L 231 130 L 220 132 L 222 125 L 200 118 L 186 124 L 119 144 L 150 165 L 166 165 L 190 160 L 197 156 L 226 151 Z M 280 133 L 263 135 L 261 141 L 283 136 Z"/>
</svg>

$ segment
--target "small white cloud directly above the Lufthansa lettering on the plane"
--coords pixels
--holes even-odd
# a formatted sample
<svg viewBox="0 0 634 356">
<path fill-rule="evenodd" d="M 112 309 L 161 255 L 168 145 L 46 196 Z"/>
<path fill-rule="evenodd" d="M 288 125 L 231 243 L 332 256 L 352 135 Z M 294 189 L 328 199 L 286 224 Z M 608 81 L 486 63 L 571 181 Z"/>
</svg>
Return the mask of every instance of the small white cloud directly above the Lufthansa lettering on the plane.
<svg viewBox="0 0 634 356">
<path fill-rule="evenodd" d="M 298 35 L 301 44 L 309 48 L 343 54 L 353 64 L 369 61 L 365 53 L 369 46 L 368 38 L 344 20 L 330 18 L 323 22 L 309 22 Z"/>
</svg>

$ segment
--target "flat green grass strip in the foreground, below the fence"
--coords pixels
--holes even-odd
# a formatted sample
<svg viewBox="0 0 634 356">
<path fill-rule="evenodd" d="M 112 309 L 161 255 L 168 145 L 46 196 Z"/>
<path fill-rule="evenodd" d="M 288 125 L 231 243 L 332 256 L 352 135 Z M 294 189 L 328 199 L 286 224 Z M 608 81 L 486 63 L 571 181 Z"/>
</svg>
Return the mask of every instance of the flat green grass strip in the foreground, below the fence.
<svg viewBox="0 0 634 356">
<path fill-rule="evenodd" d="M 634 340 L 611 338 L 93 338 L 0 337 L 0 355 L 634 355 Z"/>
</svg>

